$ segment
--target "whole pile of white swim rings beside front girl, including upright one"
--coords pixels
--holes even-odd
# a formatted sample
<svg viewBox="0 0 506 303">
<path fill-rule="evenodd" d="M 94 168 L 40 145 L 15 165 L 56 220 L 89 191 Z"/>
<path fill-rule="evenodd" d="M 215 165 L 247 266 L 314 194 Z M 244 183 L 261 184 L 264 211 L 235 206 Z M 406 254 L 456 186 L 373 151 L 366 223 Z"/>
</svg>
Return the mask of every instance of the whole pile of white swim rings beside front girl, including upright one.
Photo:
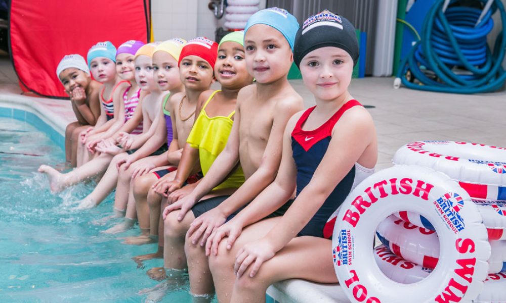
<svg viewBox="0 0 506 303">
<path fill-rule="evenodd" d="M 419 141 L 393 162 L 329 219 L 350 300 L 506 303 L 506 148 Z"/>
</svg>

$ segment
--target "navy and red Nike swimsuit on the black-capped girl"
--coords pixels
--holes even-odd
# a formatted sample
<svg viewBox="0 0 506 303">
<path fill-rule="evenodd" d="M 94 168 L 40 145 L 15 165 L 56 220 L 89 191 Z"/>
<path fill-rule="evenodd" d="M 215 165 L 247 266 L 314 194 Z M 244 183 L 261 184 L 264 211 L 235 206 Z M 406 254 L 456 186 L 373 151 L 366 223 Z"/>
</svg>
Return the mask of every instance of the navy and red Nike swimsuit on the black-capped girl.
<svg viewBox="0 0 506 303">
<path fill-rule="evenodd" d="M 291 133 L 291 148 L 293 160 L 297 166 L 297 195 L 308 185 L 318 165 L 325 155 L 332 137 L 332 129 L 343 114 L 354 106 L 362 106 L 357 100 L 345 103 L 330 119 L 314 130 L 303 130 L 302 126 L 315 107 L 304 112 Z M 323 238 L 323 229 L 332 213 L 343 203 L 353 188 L 355 181 L 355 166 L 335 186 L 325 199 L 323 205 L 301 230 L 299 236 L 315 236 Z M 331 235 L 330 235 L 331 236 Z"/>
</svg>

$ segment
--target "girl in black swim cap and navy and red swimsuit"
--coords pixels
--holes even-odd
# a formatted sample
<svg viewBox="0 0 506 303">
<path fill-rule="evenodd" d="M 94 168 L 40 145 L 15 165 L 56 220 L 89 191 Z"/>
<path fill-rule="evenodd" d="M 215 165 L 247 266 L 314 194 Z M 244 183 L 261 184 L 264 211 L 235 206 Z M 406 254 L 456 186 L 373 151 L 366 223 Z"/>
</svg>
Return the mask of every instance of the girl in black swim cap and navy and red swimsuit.
<svg viewBox="0 0 506 303">
<path fill-rule="evenodd" d="M 207 242 L 220 302 L 264 302 L 269 285 L 291 278 L 338 282 L 323 229 L 333 229 L 327 219 L 377 161 L 372 118 L 348 91 L 358 56 L 355 28 L 342 16 L 323 11 L 297 32 L 294 62 L 316 106 L 288 122 L 275 181 Z M 259 221 L 294 190 L 282 217 Z"/>
</svg>

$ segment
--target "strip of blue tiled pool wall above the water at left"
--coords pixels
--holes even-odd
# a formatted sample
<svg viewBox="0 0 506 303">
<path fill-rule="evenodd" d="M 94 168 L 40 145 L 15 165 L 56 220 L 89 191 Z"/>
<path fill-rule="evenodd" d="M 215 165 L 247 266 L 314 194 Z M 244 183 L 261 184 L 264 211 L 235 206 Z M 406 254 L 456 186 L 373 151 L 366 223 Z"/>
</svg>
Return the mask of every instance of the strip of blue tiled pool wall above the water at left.
<svg viewBox="0 0 506 303">
<path fill-rule="evenodd" d="M 65 136 L 51 127 L 37 114 L 30 111 L 29 108 L 10 108 L 0 104 L 0 117 L 12 118 L 33 125 L 38 130 L 46 133 L 56 145 L 65 151 Z"/>
</svg>

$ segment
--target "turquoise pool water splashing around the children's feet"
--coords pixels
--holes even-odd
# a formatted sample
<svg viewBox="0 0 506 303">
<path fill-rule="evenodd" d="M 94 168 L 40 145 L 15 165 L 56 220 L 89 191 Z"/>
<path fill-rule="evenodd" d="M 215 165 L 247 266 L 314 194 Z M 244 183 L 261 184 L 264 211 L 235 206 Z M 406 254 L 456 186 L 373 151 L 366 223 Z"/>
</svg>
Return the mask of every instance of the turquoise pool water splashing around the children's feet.
<svg viewBox="0 0 506 303">
<path fill-rule="evenodd" d="M 156 244 L 121 243 L 138 228 L 102 233 L 121 221 L 96 222 L 111 215 L 112 195 L 97 208 L 72 210 L 93 184 L 52 194 L 36 170 L 64 160 L 45 133 L 0 118 L 0 302 L 190 302 L 187 282 L 164 296 L 138 293 L 159 283 L 146 271 L 162 260 L 138 269 L 131 258 L 156 251 Z"/>
</svg>

